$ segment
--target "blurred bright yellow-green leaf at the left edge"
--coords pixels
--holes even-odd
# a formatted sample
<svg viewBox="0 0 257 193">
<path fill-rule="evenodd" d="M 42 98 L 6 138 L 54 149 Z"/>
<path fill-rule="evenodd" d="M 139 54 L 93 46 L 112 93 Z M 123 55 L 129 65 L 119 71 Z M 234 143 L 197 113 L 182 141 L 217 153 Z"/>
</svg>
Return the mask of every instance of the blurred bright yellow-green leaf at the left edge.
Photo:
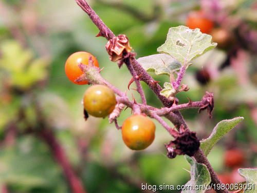
<svg viewBox="0 0 257 193">
<path fill-rule="evenodd" d="M 26 90 L 46 78 L 48 61 L 42 58 L 33 60 L 33 52 L 24 49 L 18 42 L 6 40 L 0 50 L 0 67 L 8 73 L 7 79 L 11 85 Z"/>
</svg>

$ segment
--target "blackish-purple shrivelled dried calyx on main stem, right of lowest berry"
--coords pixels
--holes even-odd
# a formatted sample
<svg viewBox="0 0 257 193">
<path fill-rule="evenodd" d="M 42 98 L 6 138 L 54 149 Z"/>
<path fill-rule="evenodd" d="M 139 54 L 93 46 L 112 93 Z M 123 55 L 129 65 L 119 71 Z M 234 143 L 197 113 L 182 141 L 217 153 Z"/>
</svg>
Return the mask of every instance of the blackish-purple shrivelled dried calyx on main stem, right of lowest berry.
<svg viewBox="0 0 257 193">
<path fill-rule="evenodd" d="M 168 150 L 167 156 L 174 158 L 176 155 L 189 155 L 193 156 L 194 153 L 199 149 L 200 142 L 196 137 L 196 133 L 184 130 L 180 132 L 168 145 L 165 145 Z"/>
</svg>

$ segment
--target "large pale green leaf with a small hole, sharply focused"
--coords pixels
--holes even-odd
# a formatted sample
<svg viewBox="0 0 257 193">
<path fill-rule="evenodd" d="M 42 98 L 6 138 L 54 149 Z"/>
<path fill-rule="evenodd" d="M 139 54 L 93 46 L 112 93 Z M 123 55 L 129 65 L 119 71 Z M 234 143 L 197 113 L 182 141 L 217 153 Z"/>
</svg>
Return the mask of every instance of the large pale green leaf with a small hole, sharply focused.
<svg viewBox="0 0 257 193">
<path fill-rule="evenodd" d="M 217 43 L 211 43 L 212 36 L 201 33 L 200 29 L 186 26 L 171 27 L 166 42 L 157 51 L 166 53 L 181 64 L 188 64 L 192 59 L 213 49 Z"/>
</svg>

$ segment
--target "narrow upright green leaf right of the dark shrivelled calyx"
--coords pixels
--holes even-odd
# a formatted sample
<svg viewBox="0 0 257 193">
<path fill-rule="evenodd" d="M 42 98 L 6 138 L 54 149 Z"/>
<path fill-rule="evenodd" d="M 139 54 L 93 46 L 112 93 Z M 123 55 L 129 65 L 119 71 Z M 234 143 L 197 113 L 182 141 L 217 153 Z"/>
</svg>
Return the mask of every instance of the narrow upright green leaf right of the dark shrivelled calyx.
<svg viewBox="0 0 257 193">
<path fill-rule="evenodd" d="M 211 135 L 201 141 L 201 149 L 204 151 L 205 155 L 207 156 L 219 139 L 222 138 L 227 132 L 232 130 L 243 119 L 244 117 L 235 117 L 232 119 L 219 121 L 214 127 Z"/>
</svg>

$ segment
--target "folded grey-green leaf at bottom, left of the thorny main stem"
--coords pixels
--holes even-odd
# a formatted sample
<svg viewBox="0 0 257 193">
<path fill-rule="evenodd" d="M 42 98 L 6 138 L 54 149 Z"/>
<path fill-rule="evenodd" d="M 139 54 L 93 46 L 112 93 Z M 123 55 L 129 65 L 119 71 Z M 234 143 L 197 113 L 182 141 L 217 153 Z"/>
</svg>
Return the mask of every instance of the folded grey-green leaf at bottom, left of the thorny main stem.
<svg viewBox="0 0 257 193">
<path fill-rule="evenodd" d="M 186 183 L 185 186 L 196 187 L 196 186 L 206 186 L 211 183 L 210 173 L 204 164 L 198 164 L 193 157 L 188 155 L 185 156 L 189 164 L 191 165 L 190 176 L 191 179 Z M 182 190 L 181 193 L 201 193 L 205 192 L 204 188 L 199 188 L 199 190 Z"/>
</svg>

